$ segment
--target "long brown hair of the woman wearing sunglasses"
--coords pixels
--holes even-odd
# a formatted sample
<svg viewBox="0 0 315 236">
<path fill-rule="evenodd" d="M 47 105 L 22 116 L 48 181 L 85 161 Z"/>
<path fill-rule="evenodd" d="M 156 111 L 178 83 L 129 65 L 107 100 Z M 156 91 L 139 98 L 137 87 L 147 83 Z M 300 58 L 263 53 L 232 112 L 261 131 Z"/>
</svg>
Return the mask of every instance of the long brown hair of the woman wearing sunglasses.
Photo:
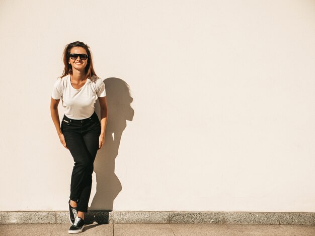
<svg viewBox="0 0 315 236">
<path fill-rule="evenodd" d="M 80 41 L 75 41 L 73 43 L 69 43 L 65 46 L 64 50 L 63 50 L 63 64 L 64 64 L 64 69 L 63 69 L 63 73 L 62 75 L 60 76 L 60 78 L 68 75 L 68 74 L 72 74 L 72 66 L 71 64 L 68 64 L 68 61 L 69 61 L 69 58 L 70 58 L 70 50 L 71 48 L 73 47 L 82 47 L 84 48 L 87 53 L 88 53 L 88 62 L 87 62 L 87 66 L 86 66 L 86 76 L 87 78 L 92 78 L 92 76 L 96 76 L 98 78 L 98 76 L 96 75 L 95 71 L 94 71 L 94 68 L 93 68 L 93 60 L 92 60 L 92 54 L 91 54 L 91 51 L 90 51 L 90 47 L 83 43 L 83 42 L 80 42 Z"/>
</svg>

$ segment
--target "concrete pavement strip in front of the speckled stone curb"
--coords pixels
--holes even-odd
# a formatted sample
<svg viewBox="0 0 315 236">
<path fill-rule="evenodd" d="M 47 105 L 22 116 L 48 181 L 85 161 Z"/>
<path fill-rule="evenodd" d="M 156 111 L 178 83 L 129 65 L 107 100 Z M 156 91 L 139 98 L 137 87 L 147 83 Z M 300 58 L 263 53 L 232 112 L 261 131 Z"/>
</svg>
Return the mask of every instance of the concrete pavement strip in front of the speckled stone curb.
<svg viewBox="0 0 315 236">
<path fill-rule="evenodd" d="M 70 224 L 0 224 L 3 236 L 70 235 Z M 315 225 L 285 224 L 87 224 L 78 235 L 93 236 L 314 236 Z"/>
</svg>

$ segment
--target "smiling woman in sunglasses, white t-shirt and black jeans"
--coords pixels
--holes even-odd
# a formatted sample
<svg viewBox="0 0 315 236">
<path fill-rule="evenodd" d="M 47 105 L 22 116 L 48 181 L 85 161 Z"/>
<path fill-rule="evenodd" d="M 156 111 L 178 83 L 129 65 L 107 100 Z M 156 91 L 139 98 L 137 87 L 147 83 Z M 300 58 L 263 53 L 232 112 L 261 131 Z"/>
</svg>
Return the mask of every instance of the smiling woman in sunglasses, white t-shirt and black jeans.
<svg viewBox="0 0 315 236">
<path fill-rule="evenodd" d="M 79 41 L 66 45 L 63 63 L 63 74 L 54 84 L 50 111 L 60 142 L 74 160 L 68 202 L 72 225 L 68 232 L 79 233 L 88 211 L 93 163 L 105 141 L 108 110 L 105 84 L 94 72 L 89 46 Z M 60 98 L 64 107 L 61 127 L 57 109 Z M 100 102 L 101 122 L 94 111 L 96 99 Z"/>
</svg>

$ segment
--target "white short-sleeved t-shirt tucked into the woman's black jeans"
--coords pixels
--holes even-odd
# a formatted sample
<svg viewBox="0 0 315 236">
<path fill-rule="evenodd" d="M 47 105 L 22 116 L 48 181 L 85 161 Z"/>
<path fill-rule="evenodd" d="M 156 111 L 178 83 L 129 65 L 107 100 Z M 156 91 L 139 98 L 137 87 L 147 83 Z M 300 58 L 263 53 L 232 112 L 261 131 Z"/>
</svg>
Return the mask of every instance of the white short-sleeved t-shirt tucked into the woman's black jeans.
<svg viewBox="0 0 315 236">
<path fill-rule="evenodd" d="M 101 78 L 92 81 L 87 79 L 83 87 L 75 89 L 70 82 L 70 75 L 66 75 L 55 82 L 53 99 L 62 100 L 64 114 L 73 120 L 83 120 L 94 113 L 95 101 L 98 97 L 105 97 L 105 84 Z"/>
</svg>

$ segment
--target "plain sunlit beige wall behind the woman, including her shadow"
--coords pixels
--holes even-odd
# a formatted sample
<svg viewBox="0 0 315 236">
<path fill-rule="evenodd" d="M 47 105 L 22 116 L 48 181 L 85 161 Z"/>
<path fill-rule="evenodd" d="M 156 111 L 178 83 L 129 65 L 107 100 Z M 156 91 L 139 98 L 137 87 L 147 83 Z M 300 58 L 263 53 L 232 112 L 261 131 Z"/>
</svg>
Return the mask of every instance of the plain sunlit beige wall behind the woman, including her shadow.
<svg viewBox="0 0 315 236">
<path fill-rule="evenodd" d="M 80 40 L 111 114 L 91 209 L 315 211 L 314 1 L 2 0 L 0 35 L 0 210 L 66 210 L 49 104 Z"/>
</svg>

